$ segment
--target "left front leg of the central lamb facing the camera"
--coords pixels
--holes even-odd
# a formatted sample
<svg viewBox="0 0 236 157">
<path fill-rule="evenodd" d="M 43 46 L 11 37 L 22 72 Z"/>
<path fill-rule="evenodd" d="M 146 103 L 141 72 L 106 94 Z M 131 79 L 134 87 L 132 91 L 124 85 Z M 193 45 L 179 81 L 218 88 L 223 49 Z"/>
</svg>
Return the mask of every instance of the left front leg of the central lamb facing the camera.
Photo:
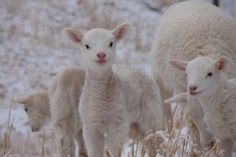
<svg viewBox="0 0 236 157">
<path fill-rule="evenodd" d="M 105 138 L 96 126 L 83 126 L 83 138 L 89 157 L 104 156 Z"/>
</svg>

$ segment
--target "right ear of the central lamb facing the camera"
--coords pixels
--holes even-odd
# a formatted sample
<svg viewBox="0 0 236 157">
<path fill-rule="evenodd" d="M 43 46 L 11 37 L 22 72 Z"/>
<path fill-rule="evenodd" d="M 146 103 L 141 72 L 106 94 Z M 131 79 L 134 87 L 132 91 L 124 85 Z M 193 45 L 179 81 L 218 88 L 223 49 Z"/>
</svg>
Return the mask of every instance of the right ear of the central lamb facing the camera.
<svg viewBox="0 0 236 157">
<path fill-rule="evenodd" d="M 118 26 L 116 26 L 111 32 L 115 36 L 115 39 L 121 40 L 124 38 L 124 36 L 127 34 L 129 29 L 129 24 L 128 23 L 122 23 Z"/>
</svg>

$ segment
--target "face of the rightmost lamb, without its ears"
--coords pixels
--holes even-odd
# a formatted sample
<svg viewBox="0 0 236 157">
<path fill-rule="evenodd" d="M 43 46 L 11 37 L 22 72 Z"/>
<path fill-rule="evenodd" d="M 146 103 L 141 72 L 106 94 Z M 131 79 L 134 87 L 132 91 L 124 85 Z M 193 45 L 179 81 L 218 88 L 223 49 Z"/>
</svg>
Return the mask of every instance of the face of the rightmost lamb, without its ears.
<svg viewBox="0 0 236 157">
<path fill-rule="evenodd" d="M 220 71 L 215 61 L 208 57 L 198 57 L 186 67 L 188 92 L 191 96 L 211 96 L 220 87 Z"/>
</svg>

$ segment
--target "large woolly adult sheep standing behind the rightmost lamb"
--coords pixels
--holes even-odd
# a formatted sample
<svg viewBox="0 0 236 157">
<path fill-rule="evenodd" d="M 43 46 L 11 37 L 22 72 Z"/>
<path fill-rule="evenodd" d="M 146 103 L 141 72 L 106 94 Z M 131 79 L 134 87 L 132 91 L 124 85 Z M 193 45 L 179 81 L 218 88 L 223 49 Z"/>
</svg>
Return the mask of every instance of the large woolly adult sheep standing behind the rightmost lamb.
<svg viewBox="0 0 236 157">
<path fill-rule="evenodd" d="M 203 1 L 186 1 L 167 9 L 156 28 L 151 50 L 152 71 L 160 87 L 165 115 L 171 115 L 171 111 L 164 100 L 170 98 L 172 94 L 186 91 L 185 75 L 171 68 L 167 60 L 172 58 L 191 60 L 199 56 L 217 59 L 225 55 L 231 61 L 224 73 L 228 78 L 234 78 L 236 71 L 232 69 L 235 68 L 236 62 L 235 43 L 236 21 L 219 8 Z M 189 106 L 185 105 L 183 109 L 197 126 L 201 143 L 206 144 L 212 140 L 212 136 L 205 129 L 204 112 L 199 102 L 191 108 Z M 199 112 L 196 113 L 196 110 Z"/>
</svg>

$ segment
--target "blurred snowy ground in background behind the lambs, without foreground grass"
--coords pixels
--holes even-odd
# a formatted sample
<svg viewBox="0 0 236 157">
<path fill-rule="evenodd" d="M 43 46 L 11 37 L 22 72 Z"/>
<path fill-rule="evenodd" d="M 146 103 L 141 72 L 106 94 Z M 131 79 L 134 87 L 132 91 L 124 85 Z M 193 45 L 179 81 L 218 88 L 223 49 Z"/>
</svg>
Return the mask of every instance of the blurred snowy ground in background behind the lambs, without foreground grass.
<svg viewBox="0 0 236 157">
<path fill-rule="evenodd" d="M 96 10 L 90 10 L 93 6 Z M 60 3 L 56 0 L 4 0 L 1 1 L 0 9 L 0 84 L 5 90 L 0 110 L 1 126 L 8 120 L 9 102 L 14 94 L 15 97 L 22 97 L 34 90 L 47 88 L 58 70 L 70 64 L 80 65 L 77 46 L 63 32 L 66 26 L 86 30 L 86 25 L 88 23 L 90 27 L 92 18 L 98 21 L 92 23 L 92 27 L 100 25 L 100 20 L 108 21 L 111 26 L 128 21 L 131 25 L 130 33 L 117 47 L 119 62 L 132 63 L 150 73 L 147 54 L 160 13 L 149 10 L 142 0 L 64 0 Z M 109 15 L 104 20 L 102 17 L 107 13 Z M 137 49 L 133 43 L 147 48 Z M 18 108 L 15 105 L 12 112 L 13 124 L 17 131 L 24 132 L 26 117 Z"/>
</svg>

